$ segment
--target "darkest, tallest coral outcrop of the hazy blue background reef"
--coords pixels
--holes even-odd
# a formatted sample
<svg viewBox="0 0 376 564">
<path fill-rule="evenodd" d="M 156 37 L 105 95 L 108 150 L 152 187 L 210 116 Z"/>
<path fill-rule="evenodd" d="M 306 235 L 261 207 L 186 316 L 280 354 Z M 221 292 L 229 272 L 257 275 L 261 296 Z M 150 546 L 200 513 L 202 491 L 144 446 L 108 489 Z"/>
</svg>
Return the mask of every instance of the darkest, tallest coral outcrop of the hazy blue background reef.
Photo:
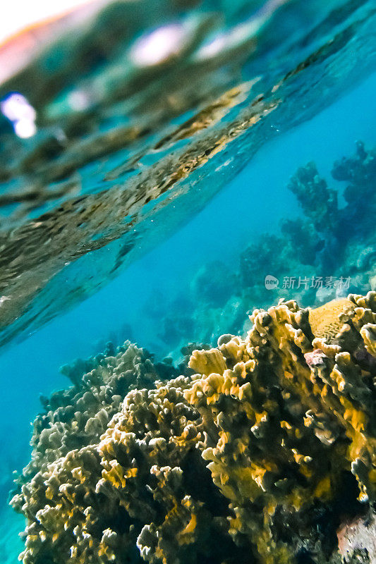
<svg viewBox="0 0 376 564">
<path fill-rule="evenodd" d="M 298 168 L 287 188 L 296 195 L 303 218 L 282 221 L 283 237 L 277 239 L 263 235 L 259 243 L 243 252 L 243 286 L 252 285 L 255 272 L 257 269 L 260 271 L 260 264 L 266 256 L 270 272 L 280 278 L 280 296 L 284 298 L 288 296 L 283 290 L 291 289 L 307 304 L 315 301 L 317 290 L 332 290 L 332 293 L 327 292 L 326 298 L 344 296 L 344 278 L 350 280 L 354 290 L 365 292 L 375 289 L 376 250 L 372 224 L 376 209 L 375 171 L 375 149 L 365 149 L 362 142 L 356 143 L 354 157 L 334 163 L 334 180 L 348 182 L 343 191 L 345 205 L 340 207 L 337 200 L 341 197 L 341 190 L 329 188 L 325 179 L 319 176 L 315 164 L 308 163 Z M 274 252 L 275 245 L 283 249 L 281 255 Z M 259 262 L 257 257 L 261 253 Z M 286 264 L 289 264 L 289 271 L 286 271 Z M 306 278 L 313 275 L 317 278 L 318 275 L 321 281 L 316 286 L 304 281 L 299 283 L 298 276 L 303 274 Z M 295 279 L 292 286 L 284 288 L 282 281 L 286 276 Z M 329 276 L 332 276 L 331 282 Z M 341 278 L 342 287 L 339 284 Z M 266 296 L 265 292 L 260 294 L 262 288 L 252 290 L 263 303 Z M 319 298 L 319 301 L 325 299 Z"/>
</svg>

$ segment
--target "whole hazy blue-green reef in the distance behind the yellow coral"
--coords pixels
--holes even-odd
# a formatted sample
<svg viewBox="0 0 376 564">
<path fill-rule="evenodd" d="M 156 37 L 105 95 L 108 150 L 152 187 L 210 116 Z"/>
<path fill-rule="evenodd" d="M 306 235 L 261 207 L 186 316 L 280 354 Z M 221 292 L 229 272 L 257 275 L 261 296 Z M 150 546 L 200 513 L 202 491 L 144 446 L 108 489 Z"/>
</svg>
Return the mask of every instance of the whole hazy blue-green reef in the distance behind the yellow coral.
<svg viewBox="0 0 376 564">
<path fill-rule="evenodd" d="M 185 311 L 174 302 L 166 308 L 171 314 L 164 316 L 159 336 L 169 350 L 178 351 L 188 338 L 213 344 L 223 331 L 241 334 L 249 329 L 245 312 L 273 299 L 296 295 L 302 305 L 320 305 L 348 291 L 375 290 L 375 149 L 357 142 L 356 154 L 336 161 L 332 176 L 346 183 L 343 192 L 328 185 L 314 163 L 298 168 L 288 188 L 303 216 L 282 220 L 279 234 L 262 234 L 246 247 L 236 271 L 229 273 L 220 260 L 201 267 L 174 298 L 189 302 Z M 274 290 L 265 287 L 268 274 L 279 280 Z M 153 309 L 147 314 L 153 317 Z"/>
</svg>

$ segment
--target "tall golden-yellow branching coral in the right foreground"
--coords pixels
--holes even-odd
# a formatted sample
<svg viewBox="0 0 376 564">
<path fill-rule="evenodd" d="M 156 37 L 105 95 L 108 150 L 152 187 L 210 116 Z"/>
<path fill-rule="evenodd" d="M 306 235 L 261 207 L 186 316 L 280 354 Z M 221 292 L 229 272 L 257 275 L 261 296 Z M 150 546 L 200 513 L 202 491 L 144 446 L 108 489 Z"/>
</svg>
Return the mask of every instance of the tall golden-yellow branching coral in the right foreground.
<svg viewBox="0 0 376 564">
<path fill-rule="evenodd" d="M 296 302 L 255 310 L 245 341 L 191 357 L 200 374 L 213 368 L 186 391 L 210 429 L 202 456 L 231 500 L 230 533 L 248 537 L 265 563 L 291 562 L 308 543 L 317 551 L 324 539 L 308 530 L 343 495 L 346 472 L 360 499 L 375 496 L 375 397 L 356 362 L 375 306 L 372 293 L 328 304 L 320 335 L 330 343 L 314 338 L 315 312 Z"/>
</svg>

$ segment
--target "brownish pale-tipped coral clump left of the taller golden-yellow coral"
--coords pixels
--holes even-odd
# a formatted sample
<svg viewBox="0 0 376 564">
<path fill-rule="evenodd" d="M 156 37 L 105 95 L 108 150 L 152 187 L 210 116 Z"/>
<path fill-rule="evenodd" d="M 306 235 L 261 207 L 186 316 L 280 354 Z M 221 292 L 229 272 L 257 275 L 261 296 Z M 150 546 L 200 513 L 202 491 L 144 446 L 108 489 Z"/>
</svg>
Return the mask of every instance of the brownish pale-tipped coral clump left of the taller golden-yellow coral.
<svg viewBox="0 0 376 564">
<path fill-rule="evenodd" d="M 129 392 L 99 445 L 72 450 L 23 486 L 13 505 L 24 503 L 28 517 L 25 563 L 209 563 L 216 541 L 241 552 L 195 448 L 200 415 L 184 401 L 187 386 L 180 376 Z"/>
</svg>

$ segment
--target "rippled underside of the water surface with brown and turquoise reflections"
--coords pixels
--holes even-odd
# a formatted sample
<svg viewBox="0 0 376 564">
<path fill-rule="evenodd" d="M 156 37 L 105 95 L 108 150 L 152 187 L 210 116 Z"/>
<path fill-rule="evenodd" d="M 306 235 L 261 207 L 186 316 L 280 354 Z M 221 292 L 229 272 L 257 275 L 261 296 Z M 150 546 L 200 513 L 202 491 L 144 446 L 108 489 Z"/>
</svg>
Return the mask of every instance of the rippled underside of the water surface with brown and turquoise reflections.
<svg viewBox="0 0 376 564">
<path fill-rule="evenodd" d="M 17 140 L 0 123 L 0 343 L 94 293 L 202 209 L 265 142 L 375 66 L 370 1 L 345 11 L 230 4 L 219 22 L 210 1 L 186 13 L 190 1 L 161 0 L 154 20 L 150 2 L 117 2 L 92 33 L 69 34 L 1 87 L 0 98 L 30 98 L 38 133 Z M 137 66 L 140 29 L 171 22 L 168 13 L 181 49 Z M 213 50 L 217 37 L 224 47 Z"/>
</svg>

